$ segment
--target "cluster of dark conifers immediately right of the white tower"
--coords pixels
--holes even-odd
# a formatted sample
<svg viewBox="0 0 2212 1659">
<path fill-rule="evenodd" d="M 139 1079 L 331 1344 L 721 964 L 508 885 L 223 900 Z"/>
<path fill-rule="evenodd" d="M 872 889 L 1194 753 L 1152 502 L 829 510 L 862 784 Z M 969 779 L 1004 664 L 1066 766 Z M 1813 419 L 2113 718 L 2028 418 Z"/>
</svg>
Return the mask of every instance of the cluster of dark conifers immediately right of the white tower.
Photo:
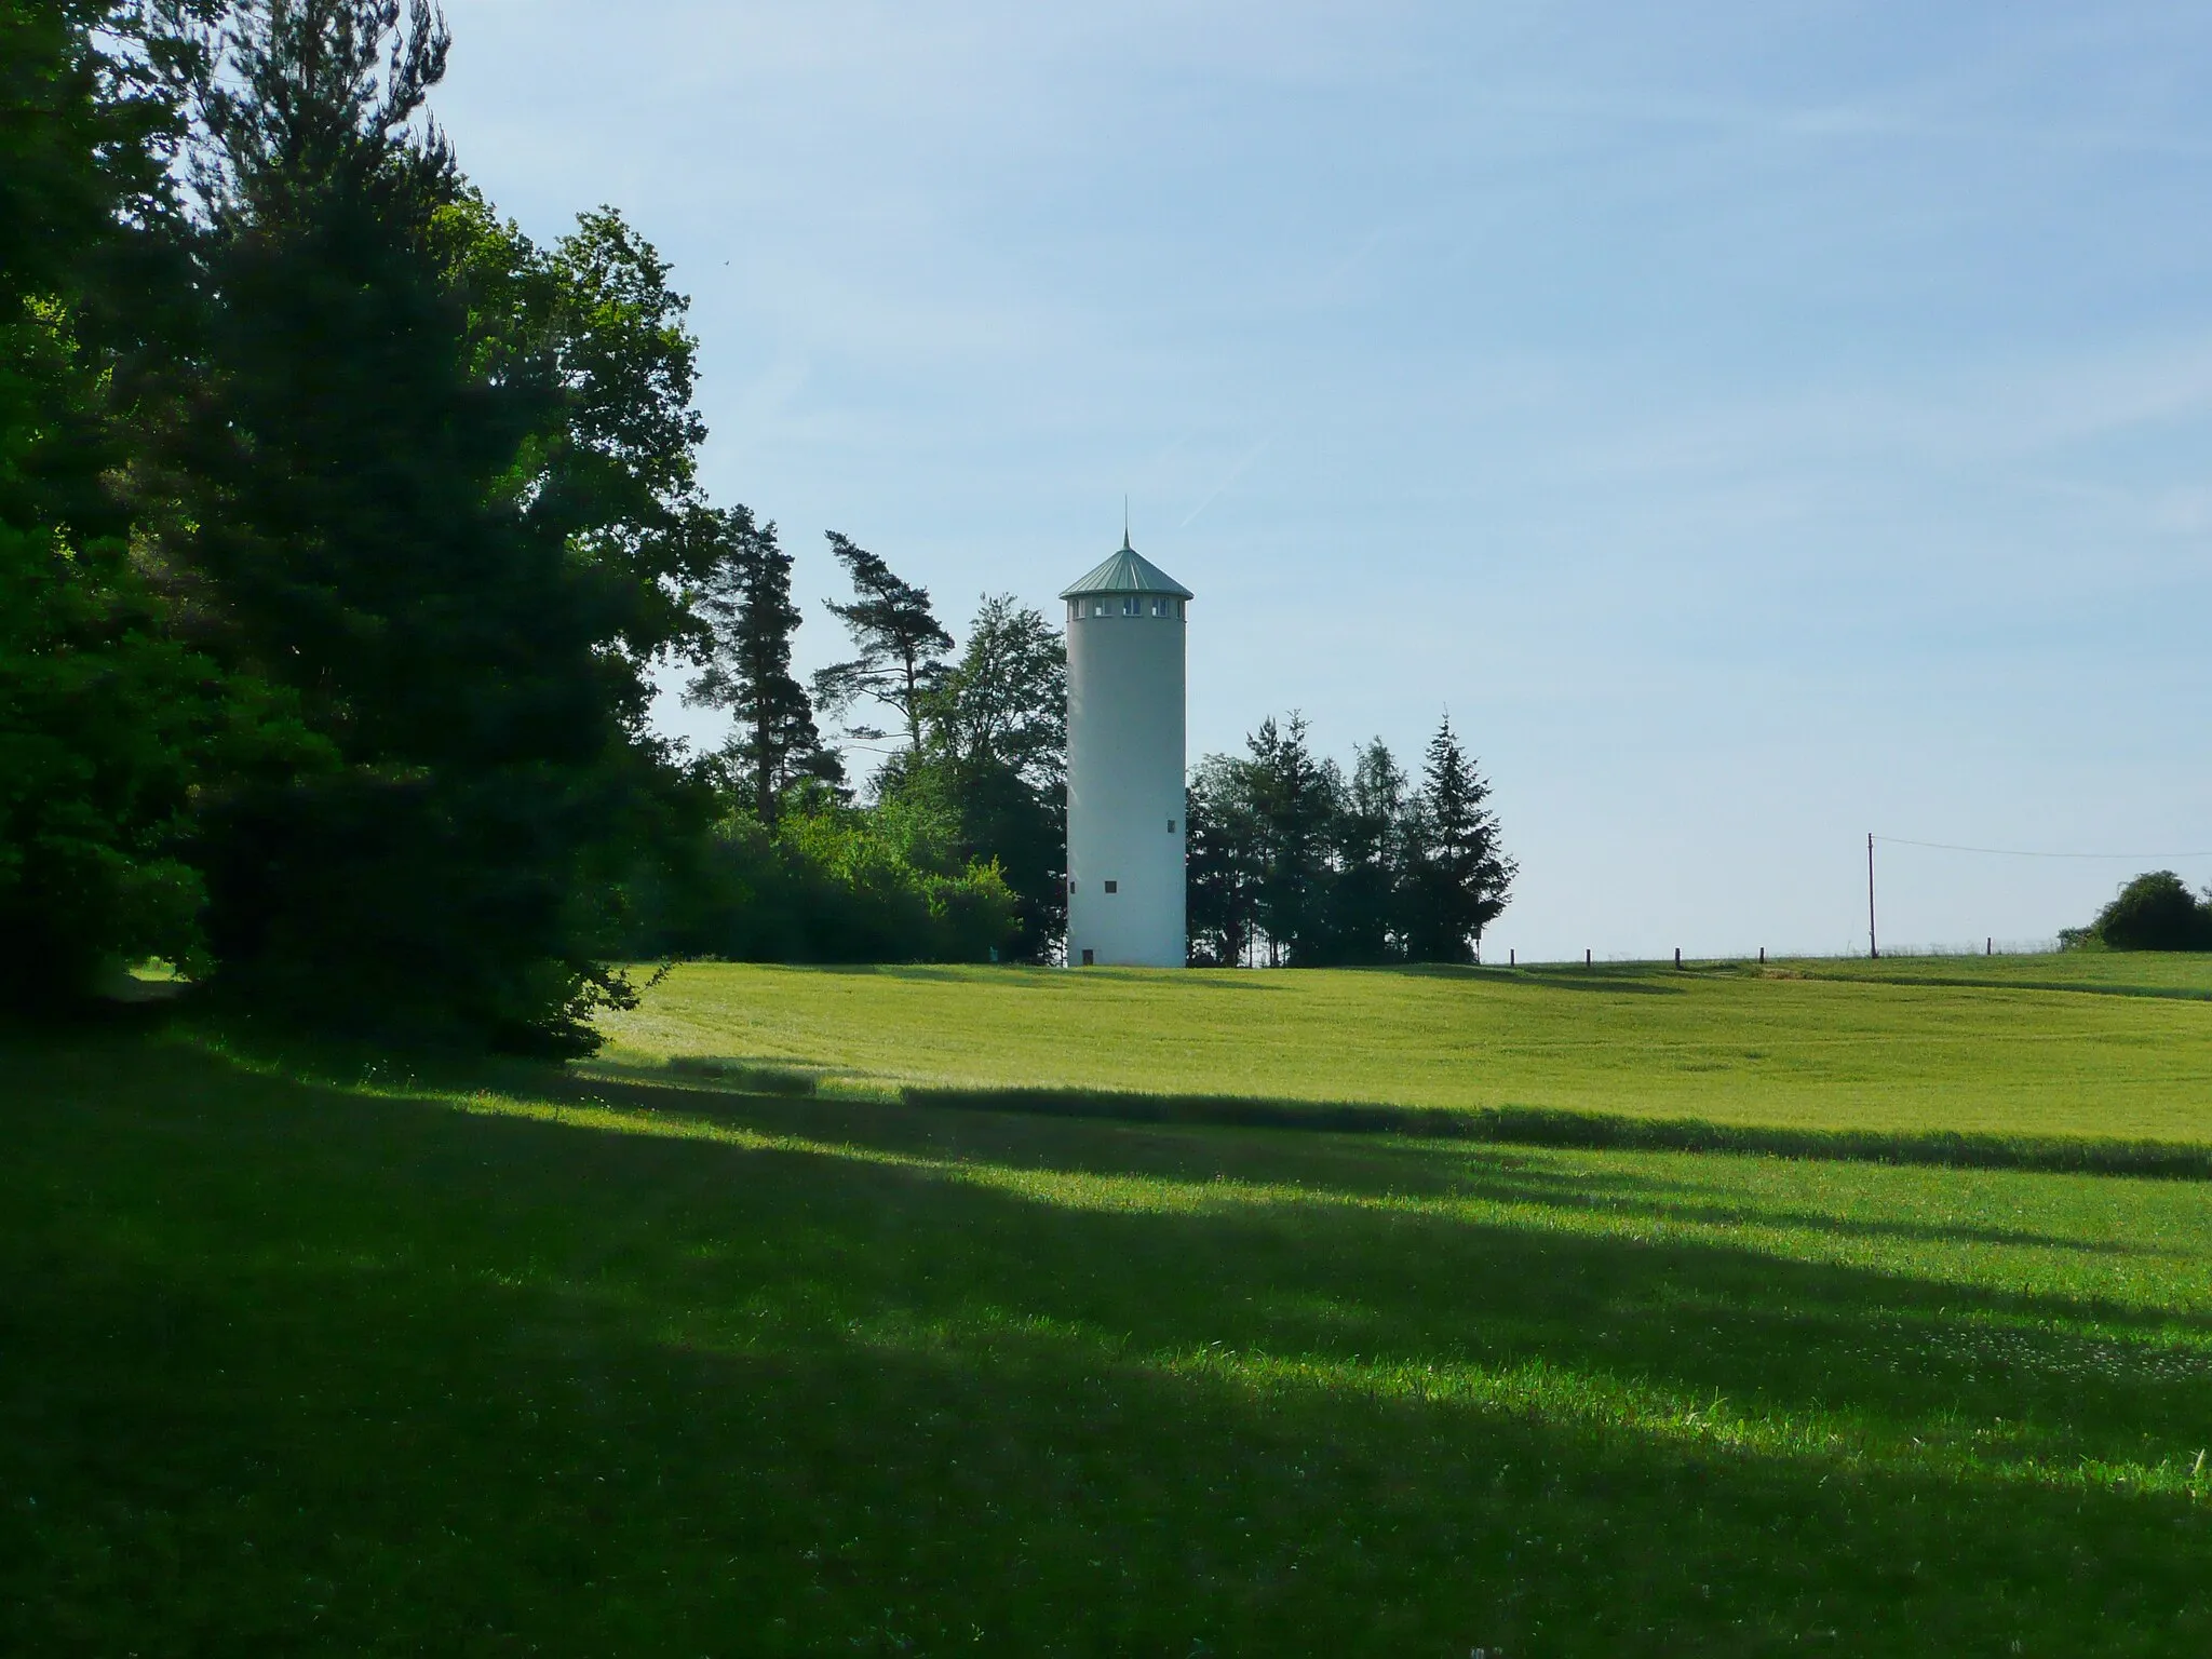
<svg viewBox="0 0 2212 1659">
<path fill-rule="evenodd" d="M 1190 776 L 1190 960 L 1473 962 L 1515 874 L 1489 794 L 1449 719 L 1420 787 L 1383 739 L 1347 779 L 1298 714 L 1263 721 L 1245 754 L 1208 754 Z"/>
</svg>

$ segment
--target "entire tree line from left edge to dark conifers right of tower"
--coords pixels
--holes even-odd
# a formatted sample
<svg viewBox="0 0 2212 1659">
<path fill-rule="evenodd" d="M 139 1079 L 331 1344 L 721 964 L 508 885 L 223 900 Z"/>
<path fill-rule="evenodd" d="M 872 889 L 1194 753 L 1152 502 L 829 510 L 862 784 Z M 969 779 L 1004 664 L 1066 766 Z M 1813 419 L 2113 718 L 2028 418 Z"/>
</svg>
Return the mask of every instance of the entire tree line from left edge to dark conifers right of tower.
<svg viewBox="0 0 2212 1659">
<path fill-rule="evenodd" d="M 427 113 L 449 51 L 427 0 L 0 0 L 0 995 L 166 958 L 573 1053 L 622 960 L 1053 960 L 1057 630 L 956 639 L 830 533 L 849 653 L 801 684 L 668 263 L 504 219 Z M 668 666 L 719 750 L 655 734 Z M 1502 902 L 1480 781 L 1376 757 L 1201 765 L 1203 960 L 1480 938 L 1438 898 Z"/>
</svg>

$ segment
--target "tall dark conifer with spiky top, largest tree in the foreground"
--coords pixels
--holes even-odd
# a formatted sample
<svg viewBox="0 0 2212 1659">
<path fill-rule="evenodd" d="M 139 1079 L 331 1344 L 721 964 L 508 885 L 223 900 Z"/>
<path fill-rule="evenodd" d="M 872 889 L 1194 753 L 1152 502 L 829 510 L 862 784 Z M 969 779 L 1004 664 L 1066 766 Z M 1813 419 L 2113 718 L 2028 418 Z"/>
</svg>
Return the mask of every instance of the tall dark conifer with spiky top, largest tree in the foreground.
<svg viewBox="0 0 2212 1659">
<path fill-rule="evenodd" d="M 336 754 L 210 796 L 221 980 L 319 1024 L 588 1046 L 626 995 L 599 916 L 661 779 L 641 655 L 688 557 L 617 484 L 659 445 L 646 489 L 679 495 L 686 422 L 639 440 L 655 376 L 608 392 L 582 349 L 624 336 L 619 283 L 538 305 L 557 272 L 467 234 L 425 0 L 243 0 L 212 44 L 181 546 L 228 657 Z M 624 361 L 650 336 L 653 396 L 688 394 L 681 330 L 637 321 Z"/>
</svg>

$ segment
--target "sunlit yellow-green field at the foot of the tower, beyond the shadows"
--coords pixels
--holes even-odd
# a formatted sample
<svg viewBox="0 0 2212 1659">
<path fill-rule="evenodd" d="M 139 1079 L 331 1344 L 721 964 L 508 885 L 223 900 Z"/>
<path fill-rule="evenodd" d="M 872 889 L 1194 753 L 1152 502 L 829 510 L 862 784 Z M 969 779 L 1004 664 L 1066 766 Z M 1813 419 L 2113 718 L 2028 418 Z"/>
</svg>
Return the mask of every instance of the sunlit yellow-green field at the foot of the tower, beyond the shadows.
<svg viewBox="0 0 2212 1659">
<path fill-rule="evenodd" d="M 679 967 L 613 1068 L 2212 1141 L 2212 958 L 1343 973 Z"/>
</svg>

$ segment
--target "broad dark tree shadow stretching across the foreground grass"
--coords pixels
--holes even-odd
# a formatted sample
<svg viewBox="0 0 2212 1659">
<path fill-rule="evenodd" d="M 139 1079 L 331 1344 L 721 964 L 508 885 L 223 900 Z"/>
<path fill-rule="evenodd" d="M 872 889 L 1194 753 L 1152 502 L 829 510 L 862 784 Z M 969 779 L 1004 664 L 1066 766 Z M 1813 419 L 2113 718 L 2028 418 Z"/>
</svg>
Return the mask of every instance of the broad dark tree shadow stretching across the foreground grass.
<svg viewBox="0 0 2212 1659">
<path fill-rule="evenodd" d="M 22 1650 L 2212 1641 L 2201 1509 L 1969 1440 L 2205 1436 L 2201 1378 L 2064 1298 L 1206 1199 L 1290 1137 L 947 1113 L 885 1161 L 925 1115 L 759 1150 L 159 1060 L 4 1077 Z"/>
</svg>

